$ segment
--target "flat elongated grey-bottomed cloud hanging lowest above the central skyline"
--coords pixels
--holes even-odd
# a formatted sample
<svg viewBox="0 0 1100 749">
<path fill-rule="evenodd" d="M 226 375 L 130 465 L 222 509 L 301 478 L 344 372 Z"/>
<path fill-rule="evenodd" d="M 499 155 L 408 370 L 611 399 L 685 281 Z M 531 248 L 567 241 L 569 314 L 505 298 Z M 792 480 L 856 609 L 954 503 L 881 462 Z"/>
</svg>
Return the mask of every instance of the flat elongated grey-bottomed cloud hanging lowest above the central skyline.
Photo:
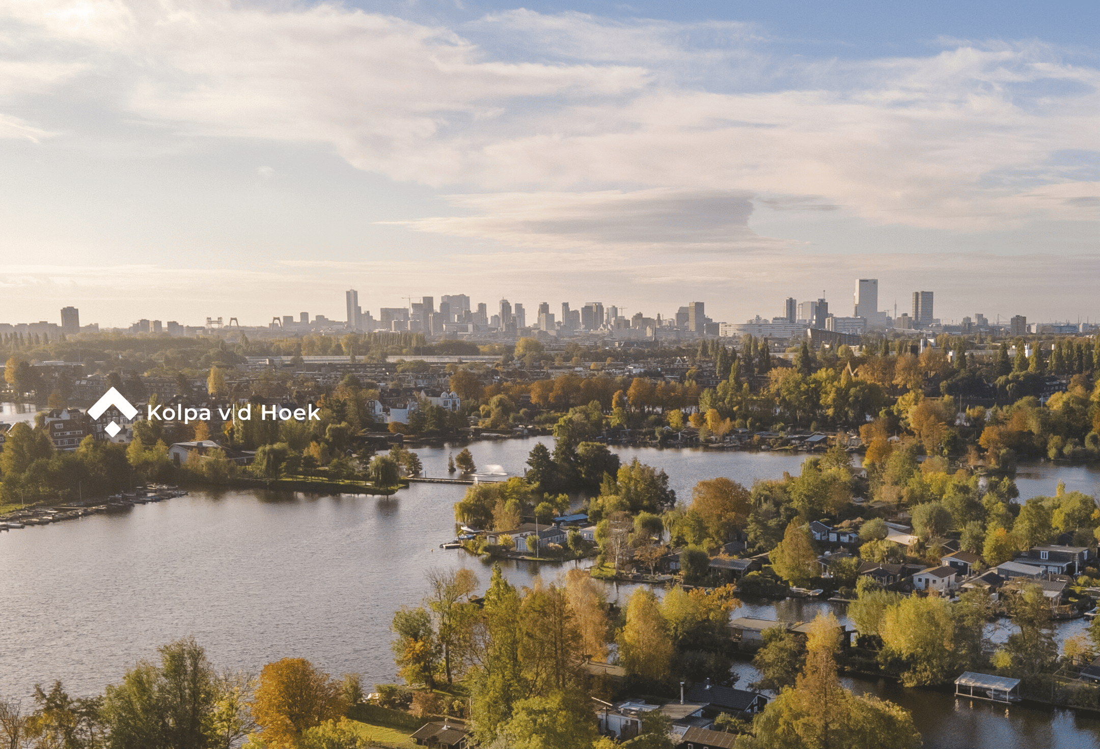
<svg viewBox="0 0 1100 749">
<path fill-rule="evenodd" d="M 736 190 L 602 190 L 450 195 L 472 216 L 392 222 L 415 231 L 530 247 L 723 251 L 782 243 L 748 228 L 752 196 Z"/>
</svg>

